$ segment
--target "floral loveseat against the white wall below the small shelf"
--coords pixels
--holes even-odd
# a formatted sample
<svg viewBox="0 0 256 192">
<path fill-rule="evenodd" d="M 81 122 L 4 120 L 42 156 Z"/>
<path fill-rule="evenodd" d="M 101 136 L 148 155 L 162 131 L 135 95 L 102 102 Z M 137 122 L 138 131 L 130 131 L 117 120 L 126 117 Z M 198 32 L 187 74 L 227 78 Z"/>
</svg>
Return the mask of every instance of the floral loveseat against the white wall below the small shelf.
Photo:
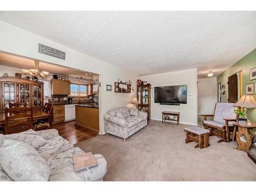
<svg viewBox="0 0 256 192">
<path fill-rule="evenodd" d="M 114 108 L 104 115 L 105 132 L 124 139 L 147 125 L 147 113 L 134 108 Z"/>
</svg>

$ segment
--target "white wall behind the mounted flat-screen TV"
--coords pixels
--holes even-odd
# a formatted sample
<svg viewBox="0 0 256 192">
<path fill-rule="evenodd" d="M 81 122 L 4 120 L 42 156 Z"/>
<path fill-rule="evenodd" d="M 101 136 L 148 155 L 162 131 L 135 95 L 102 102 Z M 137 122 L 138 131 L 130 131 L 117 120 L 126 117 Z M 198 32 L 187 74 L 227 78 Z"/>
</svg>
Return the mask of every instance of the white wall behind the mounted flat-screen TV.
<svg viewBox="0 0 256 192">
<path fill-rule="evenodd" d="M 145 75 L 141 80 L 152 85 L 151 119 L 162 120 L 162 111 L 180 112 L 180 123 L 197 125 L 197 69 Z M 187 104 L 160 105 L 154 102 L 154 87 L 187 85 Z M 189 96 L 193 94 L 192 96 Z"/>
</svg>

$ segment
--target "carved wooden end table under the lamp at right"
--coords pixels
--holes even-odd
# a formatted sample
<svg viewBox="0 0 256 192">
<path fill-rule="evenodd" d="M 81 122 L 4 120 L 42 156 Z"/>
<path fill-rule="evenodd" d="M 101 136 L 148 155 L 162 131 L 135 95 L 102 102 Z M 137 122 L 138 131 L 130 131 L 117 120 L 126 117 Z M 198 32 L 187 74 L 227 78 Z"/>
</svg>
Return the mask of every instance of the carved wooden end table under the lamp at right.
<svg viewBox="0 0 256 192">
<path fill-rule="evenodd" d="M 238 130 L 238 134 L 236 136 L 237 142 L 238 142 L 238 147 L 236 150 L 243 150 L 246 151 L 247 153 L 250 153 L 250 148 L 252 147 L 253 141 L 256 140 L 255 133 L 253 131 L 253 128 L 256 128 L 256 123 L 251 123 L 251 125 L 241 125 L 238 124 L 238 122 L 233 123 L 234 125 L 234 135 Z M 242 138 L 242 136 L 244 136 Z"/>
</svg>

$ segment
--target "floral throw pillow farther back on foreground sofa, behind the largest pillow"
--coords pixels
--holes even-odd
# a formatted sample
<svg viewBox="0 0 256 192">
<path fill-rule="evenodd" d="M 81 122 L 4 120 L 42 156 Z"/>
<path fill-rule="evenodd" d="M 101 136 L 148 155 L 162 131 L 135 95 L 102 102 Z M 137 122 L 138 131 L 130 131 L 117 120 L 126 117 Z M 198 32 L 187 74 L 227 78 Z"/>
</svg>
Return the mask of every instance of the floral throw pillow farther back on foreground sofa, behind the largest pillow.
<svg viewBox="0 0 256 192">
<path fill-rule="evenodd" d="M 34 130 L 31 129 L 25 132 L 5 135 L 5 138 L 23 141 L 25 143 L 28 143 L 35 149 L 47 143 L 47 141 L 44 138 L 42 138 L 39 134 L 37 134 Z"/>
</svg>

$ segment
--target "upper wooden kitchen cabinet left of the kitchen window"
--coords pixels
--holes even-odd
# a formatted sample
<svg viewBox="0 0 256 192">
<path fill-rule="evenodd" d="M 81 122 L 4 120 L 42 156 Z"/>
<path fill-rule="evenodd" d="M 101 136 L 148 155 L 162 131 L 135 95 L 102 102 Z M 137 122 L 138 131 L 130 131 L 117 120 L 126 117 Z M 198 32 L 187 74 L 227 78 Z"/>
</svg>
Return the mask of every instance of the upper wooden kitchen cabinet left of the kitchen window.
<svg viewBox="0 0 256 192">
<path fill-rule="evenodd" d="M 52 95 L 70 95 L 70 81 L 51 79 Z"/>
</svg>

